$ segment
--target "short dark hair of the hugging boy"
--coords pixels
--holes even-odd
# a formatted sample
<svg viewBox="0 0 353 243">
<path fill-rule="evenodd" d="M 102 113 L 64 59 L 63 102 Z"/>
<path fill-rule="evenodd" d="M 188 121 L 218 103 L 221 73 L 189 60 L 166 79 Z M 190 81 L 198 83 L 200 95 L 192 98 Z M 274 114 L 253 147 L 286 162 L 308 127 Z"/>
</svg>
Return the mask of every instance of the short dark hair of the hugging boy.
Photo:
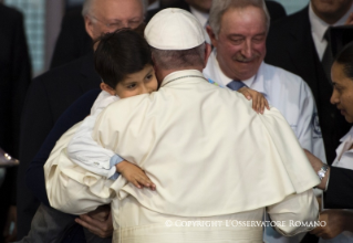
<svg viewBox="0 0 353 243">
<path fill-rule="evenodd" d="M 94 65 L 103 82 L 115 88 L 128 74 L 153 65 L 149 45 L 137 30 L 122 29 L 97 40 Z"/>
</svg>

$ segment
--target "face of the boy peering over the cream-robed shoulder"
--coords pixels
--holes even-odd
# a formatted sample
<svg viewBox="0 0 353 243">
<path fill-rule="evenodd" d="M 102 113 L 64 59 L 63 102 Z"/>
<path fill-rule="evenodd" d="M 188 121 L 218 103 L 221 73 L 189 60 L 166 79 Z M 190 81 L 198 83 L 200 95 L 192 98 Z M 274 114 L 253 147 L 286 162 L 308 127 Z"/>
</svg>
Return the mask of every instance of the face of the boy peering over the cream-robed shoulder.
<svg viewBox="0 0 353 243">
<path fill-rule="evenodd" d="M 117 95 L 121 98 L 127 98 L 135 95 L 147 94 L 157 91 L 158 83 L 155 71 L 152 65 L 146 65 L 142 71 L 129 74 L 120 82 L 114 89 L 108 92 L 111 95 Z"/>
</svg>

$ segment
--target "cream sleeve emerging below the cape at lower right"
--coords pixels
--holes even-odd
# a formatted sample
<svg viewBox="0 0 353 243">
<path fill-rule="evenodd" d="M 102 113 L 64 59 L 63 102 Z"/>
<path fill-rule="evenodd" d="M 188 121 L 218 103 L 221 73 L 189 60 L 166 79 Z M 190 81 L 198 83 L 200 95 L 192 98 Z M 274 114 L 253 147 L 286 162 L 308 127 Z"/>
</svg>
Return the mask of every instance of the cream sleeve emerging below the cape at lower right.
<svg viewBox="0 0 353 243">
<path fill-rule="evenodd" d="M 319 220 L 319 204 L 313 190 L 291 194 L 283 201 L 267 208 L 272 221 L 283 221 L 276 230 L 284 236 L 308 232 L 315 228 Z"/>
</svg>

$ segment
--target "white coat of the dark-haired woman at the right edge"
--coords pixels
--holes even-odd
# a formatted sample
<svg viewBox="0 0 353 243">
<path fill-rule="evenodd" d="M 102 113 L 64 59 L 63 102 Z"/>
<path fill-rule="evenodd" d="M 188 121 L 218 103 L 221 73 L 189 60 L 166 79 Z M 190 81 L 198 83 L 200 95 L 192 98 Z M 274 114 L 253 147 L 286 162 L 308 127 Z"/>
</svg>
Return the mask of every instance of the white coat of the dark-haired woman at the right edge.
<svg viewBox="0 0 353 243">
<path fill-rule="evenodd" d="M 351 130 L 340 140 L 342 144 L 338 147 L 338 157 L 333 161 L 333 167 L 344 168 L 353 170 L 353 149 L 350 149 L 353 145 L 353 127 Z M 344 231 L 334 239 L 323 240 L 320 239 L 319 243 L 353 243 L 353 233 Z"/>
</svg>

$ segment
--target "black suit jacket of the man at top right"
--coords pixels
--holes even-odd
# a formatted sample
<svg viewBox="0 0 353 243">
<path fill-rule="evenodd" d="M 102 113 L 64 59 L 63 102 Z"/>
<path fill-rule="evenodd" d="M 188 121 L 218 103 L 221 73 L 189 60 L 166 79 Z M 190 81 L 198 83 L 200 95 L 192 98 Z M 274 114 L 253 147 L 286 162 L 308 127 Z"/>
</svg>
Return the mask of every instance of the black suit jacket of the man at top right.
<svg viewBox="0 0 353 243">
<path fill-rule="evenodd" d="M 350 126 L 330 103 L 333 88 L 325 76 L 311 35 L 309 7 L 271 25 L 267 50 L 267 63 L 301 76 L 313 92 L 326 159 L 331 163 L 335 158 L 334 149 Z"/>
</svg>

